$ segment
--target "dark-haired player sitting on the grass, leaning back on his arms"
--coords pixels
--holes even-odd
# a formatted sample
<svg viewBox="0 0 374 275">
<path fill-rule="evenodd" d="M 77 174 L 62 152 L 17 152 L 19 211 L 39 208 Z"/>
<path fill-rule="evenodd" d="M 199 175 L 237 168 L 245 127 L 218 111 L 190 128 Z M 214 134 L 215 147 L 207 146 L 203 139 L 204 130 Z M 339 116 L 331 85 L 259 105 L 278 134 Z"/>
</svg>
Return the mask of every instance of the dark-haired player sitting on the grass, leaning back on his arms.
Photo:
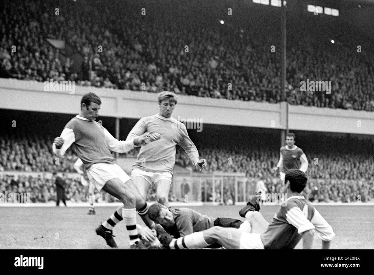
<svg viewBox="0 0 374 275">
<path fill-rule="evenodd" d="M 215 242 L 227 249 L 293 249 L 301 238 L 303 248 L 311 249 L 317 232 L 322 239 L 322 249 L 328 249 L 335 233 L 313 205 L 300 195 L 307 179 L 303 171 L 287 171 L 283 188 L 288 199 L 283 202 L 270 224 L 259 212 L 246 213 L 245 217 L 251 223 L 251 232 L 214 226 L 175 239 L 161 226 L 157 226 L 157 236 L 164 247 L 170 249 L 208 247 Z"/>
</svg>

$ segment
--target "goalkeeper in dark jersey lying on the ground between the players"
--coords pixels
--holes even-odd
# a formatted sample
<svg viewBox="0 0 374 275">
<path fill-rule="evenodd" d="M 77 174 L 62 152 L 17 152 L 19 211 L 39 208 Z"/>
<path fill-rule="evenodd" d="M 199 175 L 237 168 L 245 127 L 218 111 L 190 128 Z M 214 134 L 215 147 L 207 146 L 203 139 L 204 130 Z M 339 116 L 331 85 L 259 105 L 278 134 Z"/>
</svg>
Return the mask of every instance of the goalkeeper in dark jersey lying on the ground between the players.
<svg viewBox="0 0 374 275">
<path fill-rule="evenodd" d="M 240 210 L 240 216 L 245 217 L 248 211 L 260 210 L 260 206 L 258 205 L 259 198 L 260 195 L 251 198 L 246 207 Z M 251 224 L 248 221 L 243 223 L 240 220 L 232 218 L 209 217 L 189 208 L 172 209 L 159 203 L 149 207 L 148 217 L 155 223 L 160 224 L 174 238 L 184 237 L 193 232 L 200 232 L 214 226 L 232 227 L 245 231 L 251 230 Z M 141 229 L 138 232 L 141 232 Z M 150 236 L 144 234 L 142 239 L 148 240 Z M 218 247 L 221 247 L 221 245 L 217 243 L 209 245 L 209 248 Z M 178 249 L 178 246 L 175 246 L 175 248 Z"/>
</svg>

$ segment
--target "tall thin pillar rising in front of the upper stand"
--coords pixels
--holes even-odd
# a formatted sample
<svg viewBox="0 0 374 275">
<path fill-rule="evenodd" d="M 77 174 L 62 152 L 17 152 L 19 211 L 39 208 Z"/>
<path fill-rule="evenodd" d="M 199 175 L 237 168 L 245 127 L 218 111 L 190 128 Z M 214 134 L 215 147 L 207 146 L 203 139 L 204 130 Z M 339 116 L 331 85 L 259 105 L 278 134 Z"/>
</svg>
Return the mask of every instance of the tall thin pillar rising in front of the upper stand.
<svg viewBox="0 0 374 275">
<path fill-rule="evenodd" d="M 285 108 L 281 108 L 285 111 L 284 124 L 282 123 L 283 129 L 281 133 L 281 145 L 285 145 L 286 134 L 288 132 L 288 100 L 286 95 L 286 6 L 284 1 L 281 0 L 282 10 L 282 41 L 281 41 L 281 101 L 285 102 Z"/>
</svg>

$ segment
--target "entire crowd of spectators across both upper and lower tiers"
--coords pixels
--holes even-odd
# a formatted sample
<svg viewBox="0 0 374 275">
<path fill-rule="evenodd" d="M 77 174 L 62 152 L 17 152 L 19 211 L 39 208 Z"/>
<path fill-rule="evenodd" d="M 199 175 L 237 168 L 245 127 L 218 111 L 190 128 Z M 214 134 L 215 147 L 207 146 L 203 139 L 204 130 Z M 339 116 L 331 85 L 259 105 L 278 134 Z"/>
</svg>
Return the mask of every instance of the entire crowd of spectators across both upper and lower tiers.
<svg viewBox="0 0 374 275">
<path fill-rule="evenodd" d="M 227 100 L 281 100 L 280 51 L 270 51 L 272 45 L 279 49 L 275 30 L 250 27 L 257 22 L 241 29 L 180 16 L 164 18 L 161 13 L 139 18 L 119 0 L 111 3 L 86 6 L 84 1 L 5 0 L 0 11 L 1 76 L 39 82 L 71 80 L 78 85 L 134 91 L 168 90 Z M 339 43 L 327 43 L 324 24 L 288 22 L 289 103 L 374 111 L 373 49 L 358 33 L 348 30 L 337 32 Z M 79 58 L 70 58 L 67 47 L 56 49 L 46 39 L 64 41 L 79 53 L 82 64 L 74 64 Z M 357 41 L 365 49 L 362 54 L 357 51 Z M 300 91 L 300 82 L 307 79 L 331 81 L 331 94 Z M 51 143 L 51 138 L 40 136 L 0 136 L 0 171 L 74 172 L 76 155 L 68 150 L 65 159 L 55 158 Z M 367 153 L 368 148 L 373 151 L 373 144 L 355 143 L 355 148 L 361 146 L 355 152 L 342 152 L 341 148 L 352 145 L 343 140 L 337 140 L 335 147 L 331 141 L 328 146 L 323 141 L 320 144 L 318 150 L 303 147 L 309 159 L 308 198 L 343 202 L 374 198 L 374 160 Z M 134 157 L 137 152 L 126 155 Z M 281 190 L 278 175 L 271 170 L 278 162 L 278 150 L 205 146 L 199 152 L 208 161 L 206 172 L 244 172 L 251 184 L 260 173 L 268 190 Z M 180 149 L 176 163 L 191 167 Z M 80 184 L 68 181 L 68 198 L 84 199 Z M 32 176 L 5 176 L 0 187 L 15 193 L 30 191 L 34 201 L 48 201 L 55 193 L 50 179 Z M 232 190 L 225 188 L 224 197 L 232 200 Z M 215 197 L 220 196 L 220 190 L 216 191 Z"/>
</svg>

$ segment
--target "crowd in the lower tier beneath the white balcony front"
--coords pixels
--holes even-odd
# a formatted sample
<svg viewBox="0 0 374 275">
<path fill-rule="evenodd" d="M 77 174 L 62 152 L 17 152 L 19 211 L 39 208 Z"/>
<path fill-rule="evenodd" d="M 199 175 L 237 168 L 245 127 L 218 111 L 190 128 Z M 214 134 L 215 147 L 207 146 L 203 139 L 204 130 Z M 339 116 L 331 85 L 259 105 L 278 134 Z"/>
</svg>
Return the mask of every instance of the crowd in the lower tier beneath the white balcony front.
<svg viewBox="0 0 374 275">
<path fill-rule="evenodd" d="M 314 140 L 315 139 L 315 140 Z M 311 138 L 310 145 L 303 144 L 303 150 L 309 161 L 307 175 L 309 185 L 305 191 L 310 201 L 342 201 L 350 202 L 361 199 L 368 201 L 374 198 L 374 145 L 370 140 L 356 138 L 332 138 L 318 136 Z M 317 143 L 318 140 L 318 143 Z M 0 172 L 75 172 L 73 164 L 77 156 L 71 150 L 65 159 L 52 155 L 51 138 L 41 136 L 1 136 L 0 137 Z M 312 144 L 319 144 L 318 148 Z M 355 147 L 352 147 L 355 144 Z M 340 147 L 340 148 L 339 148 Z M 344 152 L 341 148 L 346 148 Z M 139 149 L 129 152 L 127 157 L 135 157 Z M 282 184 L 278 175 L 272 171 L 279 160 L 277 149 L 264 147 L 225 148 L 204 146 L 199 148 L 202 158 L 208 166 L 203 171 L 242 172 L 248 179 L 248 186 L 255 186 L 260 179 L 264 180 L 270 193 L 280 193 Z M 123 156 L 126 157 L 126 156 Z M 179 146 L 177 146 L 176 164 L 191 169 L 191 162 Z M 18 178 L 6 176 L 1 179 L 1 188 L 14 193 L 31 191 L 34 201 L 48 201 L 55 194 L 54 182 L 44 177 Z M 76 178 L 68 179 L 68 198 L 84 200 L 84 190 Z M 233 186 L 225 186 L 225 201 L 234 199 Z M 249 189 L 248 189 L 249 190 Z M 0 192 L 1 193 L 1 192 Z M 209 201 L 212 190 L 202 196 Z M 172 196 L 171 200 L 182 199 Z M 247 194 L 248 195 L 248 194 Z M 154 190 L 150 190 L 148 198 L 154 197 Z M 215 198 L 220 201 L 221 190 L 216 192 Z"/>
</svg>

